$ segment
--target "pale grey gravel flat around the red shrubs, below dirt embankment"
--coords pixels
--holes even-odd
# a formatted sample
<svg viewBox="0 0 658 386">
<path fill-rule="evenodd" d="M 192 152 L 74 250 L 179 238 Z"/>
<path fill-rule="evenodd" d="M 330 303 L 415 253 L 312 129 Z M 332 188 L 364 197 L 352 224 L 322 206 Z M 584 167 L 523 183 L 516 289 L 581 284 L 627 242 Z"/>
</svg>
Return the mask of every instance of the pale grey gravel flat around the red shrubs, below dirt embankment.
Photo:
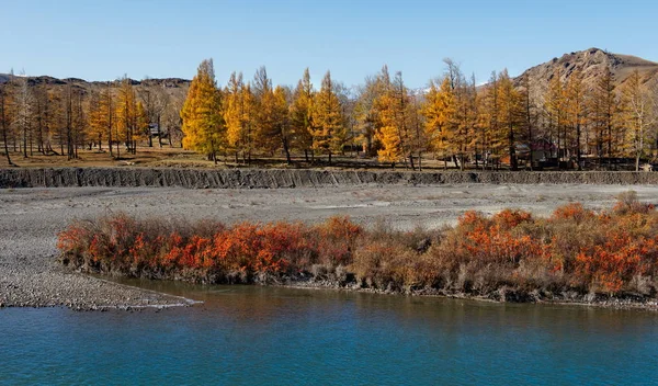
<svg viewBox="0 0 658 386">
<path fill-rule="evenodd" d="M 506 207 L 518 207 L 547 216 L 569 202 L 582 202 L 586 207 L 600 209 L 613 205 L 615 196 L 627 190 L 636 191 L 642 201 L 658 196 L 658 186 L 654 185 L 575 184 L 322 190 L 4 189 L 0 190 L 0 298 L 4 305 L 71 305 L 75 308 L 180 303 L 178 298 L 154 297 L 154 294 L 101 284 L 93 277 L 58 268 L 56 235 L 72 218 L 93 219 L 123 212 L 138 218 L 188 222 L 213 218 L 235 224 L 285 219 L 315 224 L 334 215 L 349 215 L 361 225 L 388 222 L 401 230 L 419 226 L 436 229 L 454 225 L 456 218 L 469 209 L 494 214 Z"/>
</svg>

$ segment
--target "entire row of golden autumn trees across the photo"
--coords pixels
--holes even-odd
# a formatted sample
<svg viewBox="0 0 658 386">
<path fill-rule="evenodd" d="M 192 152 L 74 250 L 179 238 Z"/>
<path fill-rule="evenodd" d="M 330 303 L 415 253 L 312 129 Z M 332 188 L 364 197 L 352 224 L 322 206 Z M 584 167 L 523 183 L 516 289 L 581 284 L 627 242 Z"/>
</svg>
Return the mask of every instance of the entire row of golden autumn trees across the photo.
<svg viewBox="0 0 658 386">
<path fill-rule="evenodd" d="M 219 87 L 209 59 L 198 66 L 184 102 L 136 90 L 128 78 L 92 91 L 48 91 L 16 79 L 0 84 L 10 163 L 10 150 L 75 158 L 78 148 L 93 147 L 118 158 L 122 149 L 134 154 L 138 144 L 173 138 L 215 162 L 283 156 L 291 163 L 295 156 L 331 163 L 337 155 L 359 155 L 410 169 L 433 158 L 444 167 L 503 163 L 517 170 L 540 160 L 581 169 L 586 160 L 601 166 L 632 158 L 638 170 L 654 159 L 658 143 L 658 92 L 639 71 L 615 80 L 610 67 L 594 82 L 585 82 L 579 70 L 567 77 L 556 69 L 542 90 L 533 89 L 527 71 L 514 79 L 507 70 L 478 87 L 451 59 L 421 90 L 386 66 L 354 88 L 329 71 L 317 88 L 308 69 L 296 87 L 274 86 L 264 67 L 252 80 L 234 72 Z"/>
</svg>

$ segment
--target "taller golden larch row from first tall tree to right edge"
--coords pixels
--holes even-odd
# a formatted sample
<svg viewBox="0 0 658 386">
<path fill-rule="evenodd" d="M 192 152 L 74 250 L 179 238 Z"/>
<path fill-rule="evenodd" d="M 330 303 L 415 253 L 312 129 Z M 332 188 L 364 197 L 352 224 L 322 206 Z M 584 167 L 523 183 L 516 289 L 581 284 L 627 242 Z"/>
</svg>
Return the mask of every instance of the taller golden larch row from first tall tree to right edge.
<svg viewBox="0 0 658 386">
<path fill-rule="evenodd" d="M 494 72 L 478 88 L 453 60 L 445 65 L 445 75 L 424 90 L 409 89 L 401 72 L 392 77 L 385 66 L 352 95 L 329 71 L 316 90 L 308 69 L 296 88 L 273 87 L 262 67 L 251 82 L 231 73 L 222 89 L 213 61 L 204 60 L 181 112 L 183 144 L 213 159 L 282 150 L 290 162 L 295 150 L 307 159 L 326 155 L 329 163 L 332 155 L 356 147 L 411 169 L 421 168 L 423 152 L 461 169 L 467 161 L 488 168 L 506 159 L 517 170 L 520 160 L 532 167 L 537 152 L 557 166 L 570 159 L 578 169 L 586 156 L 632 157 L 638 169 L 656 149 L 656 100 L 637 70 L 619 90 L 610 68 L 593 87 L 579 71 L 566 80 L 556 71 L 537 105 L 527 76 Z"/>
</svg>

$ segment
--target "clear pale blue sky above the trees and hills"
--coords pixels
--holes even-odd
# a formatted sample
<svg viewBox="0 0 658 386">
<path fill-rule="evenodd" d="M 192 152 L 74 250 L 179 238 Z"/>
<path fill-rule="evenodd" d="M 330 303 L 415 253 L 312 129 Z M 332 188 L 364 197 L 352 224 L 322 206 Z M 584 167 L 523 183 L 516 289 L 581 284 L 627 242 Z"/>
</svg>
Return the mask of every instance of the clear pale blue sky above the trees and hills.
<svg viewBox="0 0 658 386">
<path fill-rule="evenodd" d="M 383 65 L 410 88 L 444 58 L 486 81 L 598 47 L 658 61 L 658 1 L 0 0 L 0 73 L 191 79 L 265 66 L 275 84 L 327 70 L 351 87 Z"/>
</svg>

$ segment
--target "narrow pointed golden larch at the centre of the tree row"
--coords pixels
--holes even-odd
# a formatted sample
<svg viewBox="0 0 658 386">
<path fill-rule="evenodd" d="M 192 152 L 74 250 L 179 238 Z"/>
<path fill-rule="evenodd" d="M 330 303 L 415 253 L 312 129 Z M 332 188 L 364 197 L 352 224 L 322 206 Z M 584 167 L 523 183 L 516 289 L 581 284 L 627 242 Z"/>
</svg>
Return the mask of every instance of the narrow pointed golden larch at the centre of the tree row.
<svg viewBox="0 0 658 386">
<path fill-rule="evenodd" d="M 331 164 L 331 155 L 341 150 L 345 133 L 340 101 L 333 91 L 329 71 L 322 78 L 320 91 L 315 95 L 313 116 L 313 149 L 327 154 Z"/>
</svg>

